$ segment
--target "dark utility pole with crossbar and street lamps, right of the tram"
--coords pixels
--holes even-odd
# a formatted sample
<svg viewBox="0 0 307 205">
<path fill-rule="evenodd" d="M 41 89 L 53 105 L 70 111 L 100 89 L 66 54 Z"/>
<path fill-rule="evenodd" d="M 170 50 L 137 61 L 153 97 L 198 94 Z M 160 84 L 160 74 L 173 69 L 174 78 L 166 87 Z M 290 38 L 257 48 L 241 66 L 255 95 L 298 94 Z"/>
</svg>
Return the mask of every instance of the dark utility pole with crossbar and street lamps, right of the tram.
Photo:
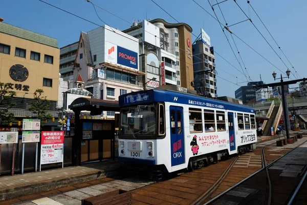
<svg viewBox="0 0 307 205">
<path fill-rule="evenodd" d="M 286 71 L 288 78 L 290 76 L 290 72 L 291 71 L 289 69 Z M 272 73 L 272 75 L 274 77 L 274 80 L 280 79 L 280 83 L 264 84 L 264 85 L 259 85 L 259 86 L 256 86 L 256 87 L 257 88 L 266 88 L 266 87 L 274 87 L 274 86 L 280 86 L 281 87 L 281 99 L 282 99 L 282 110 L 283 110 L 284 125 L 285 125 L 285 129 L 286 129 L 287 139 L 290 139 L 290 134 L 289 134 L 289 130 L 290 130 L 289 108 L 288 108 L 287 96 L 284 92 L 284 86 L 289 86 L 289 85 L 292 85 L 292 84 L 296 84 L 300 81 L 305 81 L 306 78 L 283 81 L 281 74 L 280 74 L 280 78 L 276 78 L 275 71 Z"/>
</svg>

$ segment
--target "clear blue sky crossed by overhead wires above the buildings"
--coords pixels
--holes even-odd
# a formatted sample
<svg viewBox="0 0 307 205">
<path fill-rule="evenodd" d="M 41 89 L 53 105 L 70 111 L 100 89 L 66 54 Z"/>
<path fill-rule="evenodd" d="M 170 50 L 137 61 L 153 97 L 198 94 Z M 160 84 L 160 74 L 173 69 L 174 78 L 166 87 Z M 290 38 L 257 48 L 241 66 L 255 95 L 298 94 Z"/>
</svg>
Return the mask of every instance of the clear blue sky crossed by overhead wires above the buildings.
<svg viewBox="0 0 307 205">
<path fill-rule="evenodd" d="M 208 1 L 195 1 L 198 2 L 207 11 L 209 11 L 212 15 L 214 15 Z M 211 4 L 212 2 L 213 4 L 214 2 L 216 3 L 214 0 L 209 1 Z M 97 17 L 92 4 L 86 2 L 86 0 L 46 0 L 46 2 L 82 16 L 83 18 L 89 19 L 99 25 L 104 24 Z M 134 19 L 146 19 L 146 13 L 147 19 L 164 18 L 167 22 L 176 23 L 174 19 L 172 19 L 150 0 L 92 0 L 92 2 L 105 8 L 108 11 L 119 15 L 131 23 Z M 214 50 L 242 72 L 236 58 L 234 57 L 234 54 L 231 51 L 230 46 L 227 43 L 226 37 L 224 36 L 221 27 L 218 25 L 216 20 L 205 13 L 205 11 L 196 5 L 192 0 L 155 0 L 155 2 L 163 7 L 167 12 L 169 12 L 179 22 L 189 24 L 196 36 L 200 34 L 200 29 L 203 28 L 210 36 L 211 46 L 214 47 Z M 248 14 L 249 10 L 246 1 L 240 0 L 237 2 L 240 7 Z M 303 60 L 307 56 L 307 40 L 305 37 L 307 33 L 307 27 L 304 25 L 305 19 L 307 19 L 305 10 L 307 8 L 307 1 L 251 0 L 250 3 L 271 32 L 276 42 L 281 47 L 282 51 L 287 55 L 288 59 L 300 77 L 307 77 L 305 63 L 303 63 Z M 11 0 L 0 4 L 2 7 L 0 17 L 5 19 L 4 22 L 57 38 L 59 47 L 78 41 L 80 31 L 86 32 L 97 28 L 96 25 L 85 22 L 80 18 L 60 11 L 38 0 Z M 220 6 L 228 25 L 232 25 L 247 19 L 244 13 L 232 0 L 222 3 Z M 221 20 L 221 23 L 225 24 L 218 7 L 214 8 L 218 18 Z M 113 28 L 123 30 L 130 26 L 130 24 L 124 22 L 120 18 L 115 17 L 99 8 L 96 9 L 99 17 Z M 252 10 L 251 19 L 253 20 L 256 27 L 260 30 L 260 32 L 264 34 L 277 54 L 281 53 L 269 33 L 262 26 L 261 22 Z M 265 40 L 261 37 L 261 35 L 249 21 L 234 25 L 230 27 L 230 29 L 252 48 L 258 51 L 262 56 L 265 56 L 281 71 L 284 72 L 287 70 L 287 67 L 282 63 L 279 57 L 273 52 L 273 50 L 269 47 L 269 45 L 265 42 Z M 230 42 L 232 43 L 235 53 L 237 54 L 230 34 L 227 33 L 227 35 Z M 195 36 L 192 35 L 192 42 L 194 39 Z M 261 74 L 262 80 L 265 81 L 265 83 L 272 83 L 274 81 L 272 77 L 273 71 L 275 71 L 278 76 L 280 75 L 281 71 L 273 67 L 270 63 L 268 63 L 268 61 L 252 51 L 244 43 L 240 42 L 240 40 L 238 40 L 236 37 L 234 37 L 234 40 L 252 80 L 258 81 L 260 79 L 259 74 Z M 220 56 L 215 56 L 216 70 L 218 72 L 218 76 L 220 76 L 217 77 L 217 94 L 218 96 L 227 95 L 234 97 L 234 91 L 239 88 L 239 86 L 234 84 L 237 83 L 237 81 L 238 83 L 246 81 L 246 77 L 231 65 L 229 65 Z M 286 63 L 288 68 L 290 68 L 292 73 L 295 74 L 294 69 L 292 69 L 292 66 L 282 54 L 281 59 L 284 61 L 284 63 Z M 224 72 L 223 70 L 227 71 L 228 73 Z M 229 83 L 221 77 L 231 81 L 234 84 Z M 295 79 L 293 75 L 291 77 Z M 238 85 L 243 86 L 246 84 L 247 83 L 245 82 Z M 296 86 L 293 85 L 291 87 Z"/>
</svg>

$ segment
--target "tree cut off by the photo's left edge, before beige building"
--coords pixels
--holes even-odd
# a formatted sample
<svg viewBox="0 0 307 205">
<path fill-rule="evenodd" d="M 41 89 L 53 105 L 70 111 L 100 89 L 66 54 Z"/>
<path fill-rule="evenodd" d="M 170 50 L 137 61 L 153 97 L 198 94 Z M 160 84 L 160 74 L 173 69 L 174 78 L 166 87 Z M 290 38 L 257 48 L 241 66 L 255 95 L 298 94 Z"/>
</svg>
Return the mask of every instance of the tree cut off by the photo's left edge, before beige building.
<svg viewBox="0 0 307 205">
<path fill-rule="evenodd" d="M 10 99 L 16 96 L 16 92 L 10 90 L 9 84 L 0 82 L 0 122 L 2 125 L 9 125 L 10 122 L 15 122 L 14 113 L 10 112 L 15 103 L 10 103 Z"/>
</svg>

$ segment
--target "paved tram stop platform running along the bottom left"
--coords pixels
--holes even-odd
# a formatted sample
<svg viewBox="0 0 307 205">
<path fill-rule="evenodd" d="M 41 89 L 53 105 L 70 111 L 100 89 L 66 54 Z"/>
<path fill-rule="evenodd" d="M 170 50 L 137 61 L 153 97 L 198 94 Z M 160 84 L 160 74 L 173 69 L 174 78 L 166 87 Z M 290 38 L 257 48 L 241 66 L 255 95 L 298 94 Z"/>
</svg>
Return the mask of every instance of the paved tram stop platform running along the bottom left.
<svg viewBox="0 0 307 205">
<path fill-rule="evenodd" d="M 114 176 L 120 173 L 122 166 L 117 160 L 105 160 L 78 167 L 1 176 L 0 201 Z"/>
</svg>

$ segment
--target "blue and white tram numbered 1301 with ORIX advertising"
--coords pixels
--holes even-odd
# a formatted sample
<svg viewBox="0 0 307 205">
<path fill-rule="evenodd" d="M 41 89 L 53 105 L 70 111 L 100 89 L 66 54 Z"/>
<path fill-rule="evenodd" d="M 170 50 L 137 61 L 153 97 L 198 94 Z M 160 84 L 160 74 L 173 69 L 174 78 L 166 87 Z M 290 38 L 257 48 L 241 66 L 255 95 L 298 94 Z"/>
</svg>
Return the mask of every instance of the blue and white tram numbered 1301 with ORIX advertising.
<svg viewBox="0 0 307 205">
<path fill-rule="evenodd" d="M 247 106 L 170 90 L 124 94 L 119 105 L 119 160 L 127 163 L 171 173 L 256 148 Z"/>
</svg>

